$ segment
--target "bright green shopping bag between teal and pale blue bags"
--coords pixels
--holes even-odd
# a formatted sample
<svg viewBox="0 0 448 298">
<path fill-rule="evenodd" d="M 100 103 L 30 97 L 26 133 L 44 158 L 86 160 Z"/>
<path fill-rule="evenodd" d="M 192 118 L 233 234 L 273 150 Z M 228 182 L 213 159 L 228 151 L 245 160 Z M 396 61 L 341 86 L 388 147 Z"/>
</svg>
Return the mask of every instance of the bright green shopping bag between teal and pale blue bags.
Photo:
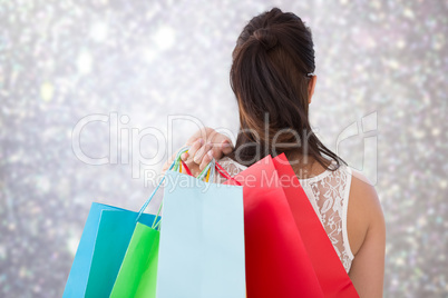
<svg viewBox="0 0 448 298">
<path fill-rule="evenodd" d="M 160 232 L 138 222 L 118 272 L 111 298 L 156 297 Z"/>
</svg>

